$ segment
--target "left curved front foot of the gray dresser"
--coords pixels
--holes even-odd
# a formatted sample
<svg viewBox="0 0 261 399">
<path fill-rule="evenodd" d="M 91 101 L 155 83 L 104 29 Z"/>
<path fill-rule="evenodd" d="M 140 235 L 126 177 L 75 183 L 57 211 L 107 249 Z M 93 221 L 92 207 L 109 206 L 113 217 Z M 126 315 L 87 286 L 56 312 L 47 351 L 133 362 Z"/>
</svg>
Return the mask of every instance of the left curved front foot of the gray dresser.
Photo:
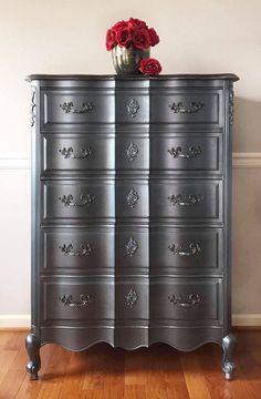
<svg viewBox="0 0 261 399">
<path fill-rule="evenodd" d="M 27 370 L 30 374 L 31 380 L 38 379 L 38 371 L 41 368 L 40 347 L 41 347 L 41 342 L 35 337 L 35 335 L 29 334 L 25 339 L 25 348 L 30 359 L 30 361 L 27 365 Z"/>
</svg>

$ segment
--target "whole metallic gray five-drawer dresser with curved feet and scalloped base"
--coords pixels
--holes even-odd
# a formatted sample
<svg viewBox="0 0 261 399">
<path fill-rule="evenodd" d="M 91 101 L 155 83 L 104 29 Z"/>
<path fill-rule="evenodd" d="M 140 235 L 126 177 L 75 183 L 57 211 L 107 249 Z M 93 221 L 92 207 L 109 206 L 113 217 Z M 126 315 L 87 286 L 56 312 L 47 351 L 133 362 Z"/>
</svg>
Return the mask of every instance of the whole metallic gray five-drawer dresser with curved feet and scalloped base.
<svg viewBox="0 0 261 399">
<path fill-rule="evenodd" d="M 32 327 L 40 348 L 223 348 L 233 74 L 31 75 Z M 174 358 L 175 362 L 175 358 Z"/>
</svg>

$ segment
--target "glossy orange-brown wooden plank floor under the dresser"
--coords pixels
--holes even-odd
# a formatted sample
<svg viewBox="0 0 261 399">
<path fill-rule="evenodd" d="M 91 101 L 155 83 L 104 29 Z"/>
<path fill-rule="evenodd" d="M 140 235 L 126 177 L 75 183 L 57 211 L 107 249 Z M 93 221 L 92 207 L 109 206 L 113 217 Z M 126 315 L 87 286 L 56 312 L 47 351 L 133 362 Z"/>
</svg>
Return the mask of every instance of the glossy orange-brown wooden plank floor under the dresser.
<svg viewBox="0 0 261 399">
<path fill-rule="evenodd" d="M 135 351 L 105 344 L 82 352 L 41 349 L 38 381 L 25 372 L 25 331 L 0 331 L 0 399 L 260 399 L 261 331 L 238 331 L 237 379 L 226 381 L 221 349 L 208 344 L 189 354 L 165 345 Z"/>
</svg>

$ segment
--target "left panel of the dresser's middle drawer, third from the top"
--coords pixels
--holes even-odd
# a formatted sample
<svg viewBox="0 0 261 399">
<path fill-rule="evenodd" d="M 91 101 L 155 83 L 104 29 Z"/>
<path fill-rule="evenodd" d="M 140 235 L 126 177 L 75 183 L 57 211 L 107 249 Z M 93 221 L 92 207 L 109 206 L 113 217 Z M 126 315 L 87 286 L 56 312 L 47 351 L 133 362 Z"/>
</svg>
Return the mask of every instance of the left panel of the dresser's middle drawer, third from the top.
<svg viewBox="0 0 261 399">
<path fill-rule="evenodd" d="M 42 190 L 43 219 L 46 222 L 115 217 L 113 180 L 43 182 Z"/>
</svg>

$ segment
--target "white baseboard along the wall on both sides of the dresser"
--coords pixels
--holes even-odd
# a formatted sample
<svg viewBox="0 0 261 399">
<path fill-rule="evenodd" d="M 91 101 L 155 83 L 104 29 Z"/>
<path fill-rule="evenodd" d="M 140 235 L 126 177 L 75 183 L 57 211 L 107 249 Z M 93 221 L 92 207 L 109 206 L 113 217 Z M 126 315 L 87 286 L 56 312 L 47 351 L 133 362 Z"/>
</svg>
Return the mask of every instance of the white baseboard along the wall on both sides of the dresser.
<svg viewBox="0 0 261 399">
<path fill-rule="evenodd" d="M 0 315 L 1 328 L 30 328 L 31 315 Z M 234 314 L 232 325 L 246 327 L 260 327 L 261 314 Z"/>
</svg>

